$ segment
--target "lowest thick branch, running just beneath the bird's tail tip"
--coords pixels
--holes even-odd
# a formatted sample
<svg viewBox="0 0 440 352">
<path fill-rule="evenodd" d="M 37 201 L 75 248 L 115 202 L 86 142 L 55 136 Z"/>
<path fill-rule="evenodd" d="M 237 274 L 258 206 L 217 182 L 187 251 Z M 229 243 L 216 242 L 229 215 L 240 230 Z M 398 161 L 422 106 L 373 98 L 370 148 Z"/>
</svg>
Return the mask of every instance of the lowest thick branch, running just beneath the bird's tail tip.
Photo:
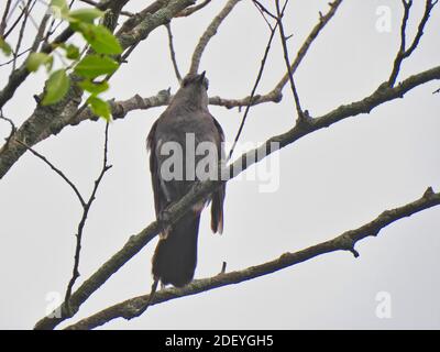
<svg viewBox="0 0 440 352">
<path fill-rule="evenodd" d="M 432 191 L 431 188 L 428 188 L 428 190 L 420 199 L 399 208 L 386 210 L 373 221 L 355 230 L 345 231 L 344 233 L 336 237 L 332 240 L 312 245 L 299 252 L 284 253 L 282 256 L 271 262 L 251 266 L 242 271 L 231 272 L 227 274 L 221 273 L 213 277 L 196 279 L 183 288 L 167 288 L 156 292 L 150 302 L 150 306 L 185 296 L 197 295 L 199 293 L 205 293 L 215 288 L 234 285 L 249 279 L 268 275 L 283 268 L 304 263 L 326 253 L 337 251 L 350 251 L 354 254 L 354 256 L 359 256 L 358 252 L 354 250 L 354 245 L 358 241 L 361 241 L 371 235 L 375 237 L 382 229 L 389 226 L 391 223 L 439 205 L 440 193 L 436 194 Z M 139 311 L 143 309 L 150 295 L 128 299 L 123 302 L 103 309 L 89 318 L 85 318 L 77 323 L 67 327 L 67 329 L 89 330 L 102 326 L 117 318 L 135 318 L 139 316 Z"/>
</svg>

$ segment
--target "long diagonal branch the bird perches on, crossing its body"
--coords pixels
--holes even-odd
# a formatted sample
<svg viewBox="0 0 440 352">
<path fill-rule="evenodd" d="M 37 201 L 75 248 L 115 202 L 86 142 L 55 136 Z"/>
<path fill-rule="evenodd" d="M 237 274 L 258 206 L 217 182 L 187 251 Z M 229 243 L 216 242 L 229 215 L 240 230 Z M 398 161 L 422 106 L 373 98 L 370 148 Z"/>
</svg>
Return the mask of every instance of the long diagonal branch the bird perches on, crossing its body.
<svg viewBox="0 0 440 352">
<path fill-rule="evenodd" d="M 349 117 L 355 117 L 361 113 L 369 113 L 375 107 L 391 101 L 397 98 L 402 98 L 407 91 L 413 88 L 420 86 L 427 81 L 440 79 L 440 66 L 422 72 L 418 75 L 410 76 L 396 87 L 388 87 L 387 82 L 380 86 L 369 97 L 350 103 L 341 106 L 327 114 L 307 120 L 308 123 L 297 123 L 289 131 L 275 135 L 263 143 L 258 148 L 249 151 L 239 157 L 232 165 L 230 165 L 226 173 L 231 175 L 231 178 L 237 177 L 248 167 L 262 161 L 264 157 L 276 152 L 273 148 L 273 143 L 279 145 L 279 148 L 285 147 L 297 140 L 301 139 L 309 133 L 318 131 L 323 128 L 328 128 L 333 123 L 342 121 Z M 154 221 L 139 234 L 132 235 L 125 245 L 116 253 L 110 260 L 108 260 L 95 274 L 86 279 L 82 285 L 72 295 L 69 306 L 72 314 L 66 315 L 65 306 L 62 305 L 57 311 L 61 311 L 61 317 L 57 318 L 43 318 L 41 319 L 35 329 L 53 329 L 62 321 L 70 318 L 75 315 L 79 307 L 103 284 L 111 277 L 118 270 L 120 270 L 128 261 L 130 261 L 146 243 L 148 243 L 160 231 L 166 226 L 174 223 L 180 217 L 185 215 L 191 206 L 211 194 L 213 190 L 219 188 L 228 179 L 222 180 L 207 180 L 204 183 L 196 184 L 187 195 L 185 195 L 179 201 L 173 204 L 167 208 L 167 221 Z"/>
</svg>

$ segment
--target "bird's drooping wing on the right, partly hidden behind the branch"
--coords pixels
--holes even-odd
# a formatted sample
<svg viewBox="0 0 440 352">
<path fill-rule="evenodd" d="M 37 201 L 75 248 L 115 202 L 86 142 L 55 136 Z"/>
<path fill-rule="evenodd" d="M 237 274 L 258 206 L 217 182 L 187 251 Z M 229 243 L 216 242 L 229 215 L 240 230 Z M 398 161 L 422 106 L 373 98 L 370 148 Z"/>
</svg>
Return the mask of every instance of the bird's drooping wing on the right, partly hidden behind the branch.
<svg viewBox="0 0 440 352">
<path fill-rule="evenodd" d="M 220 123 L 211 116 L 216 130 L 218 132 L 218 160 L 224 162 L 224 153 L 223 153 L 223 142 L 224 142 L 224 133 L 220 125 Z M 219 189 L 212 193 L 211 196 L 211 230 L 212 232 L 223 232 L 223 202 L 226 195 L 226 184 L 223 184 Z"/>
</svg>

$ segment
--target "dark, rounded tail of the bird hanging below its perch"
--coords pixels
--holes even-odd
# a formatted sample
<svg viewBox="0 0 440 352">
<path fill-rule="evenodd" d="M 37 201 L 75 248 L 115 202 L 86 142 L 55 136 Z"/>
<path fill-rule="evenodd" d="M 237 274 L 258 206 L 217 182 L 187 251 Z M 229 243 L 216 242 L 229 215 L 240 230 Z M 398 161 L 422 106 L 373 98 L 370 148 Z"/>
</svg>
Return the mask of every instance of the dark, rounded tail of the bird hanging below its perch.
<svg viewBox="0 0 440 352">
<path fill-rule="evenodd" d="M 186 215 L 160 239 L 153 256 L 153 276 L 164 285 L 182 287 L 193 277 L 197 264 L 200 215 Z"/>
</svg>

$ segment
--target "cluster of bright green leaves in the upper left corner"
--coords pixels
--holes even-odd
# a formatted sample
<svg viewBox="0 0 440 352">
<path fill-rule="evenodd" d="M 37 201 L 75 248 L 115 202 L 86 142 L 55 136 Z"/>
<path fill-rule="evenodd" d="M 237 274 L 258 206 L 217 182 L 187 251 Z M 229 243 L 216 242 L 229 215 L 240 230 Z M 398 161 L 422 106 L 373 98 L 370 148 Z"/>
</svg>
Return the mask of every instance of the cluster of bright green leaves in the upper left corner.
<svg viewBox="0 0 440 352">
<path fill-rule="evenodd" d="M 95 23 L 105 12 L 98 9 L 70 10 L 66 0 L 52 0 L 50 7 L 53 16 L 68 22 L 70 29 L 79 33 L 95 52 L 80 59 L 79 48 L 74 44 L 62 43 L 54 47 L 54 50 L 61 50 L 64 58 L 73 62 L 74 73 L 80 77 L 76 84 L 90 95 L 86 102 L 91 111 L 109 121 L 111 119 L 110 107 L 106 100 L 99 97 L 109 89 L 109 84 L 106 80 L 98 81 L 97 79 L 105 75 L 111 75 L 119 68 L 114 56 L 122 53 L 122 47 L 106 26 Z M 8 43 L 0 38 L 0 48 L 6 54 L 9 52 L 8 47 Z M 57 53 L 59 54 L 59 52 Z M 73 84 L 67 75 L 68 68 L 53 70 L 53 53 L 32 53 L 26 61 L 26 68 L 30 72 L 36 72 L 44 66 L 50 74 L 41 101 L 43 106 L 61 101 Z"/>
</svg>

